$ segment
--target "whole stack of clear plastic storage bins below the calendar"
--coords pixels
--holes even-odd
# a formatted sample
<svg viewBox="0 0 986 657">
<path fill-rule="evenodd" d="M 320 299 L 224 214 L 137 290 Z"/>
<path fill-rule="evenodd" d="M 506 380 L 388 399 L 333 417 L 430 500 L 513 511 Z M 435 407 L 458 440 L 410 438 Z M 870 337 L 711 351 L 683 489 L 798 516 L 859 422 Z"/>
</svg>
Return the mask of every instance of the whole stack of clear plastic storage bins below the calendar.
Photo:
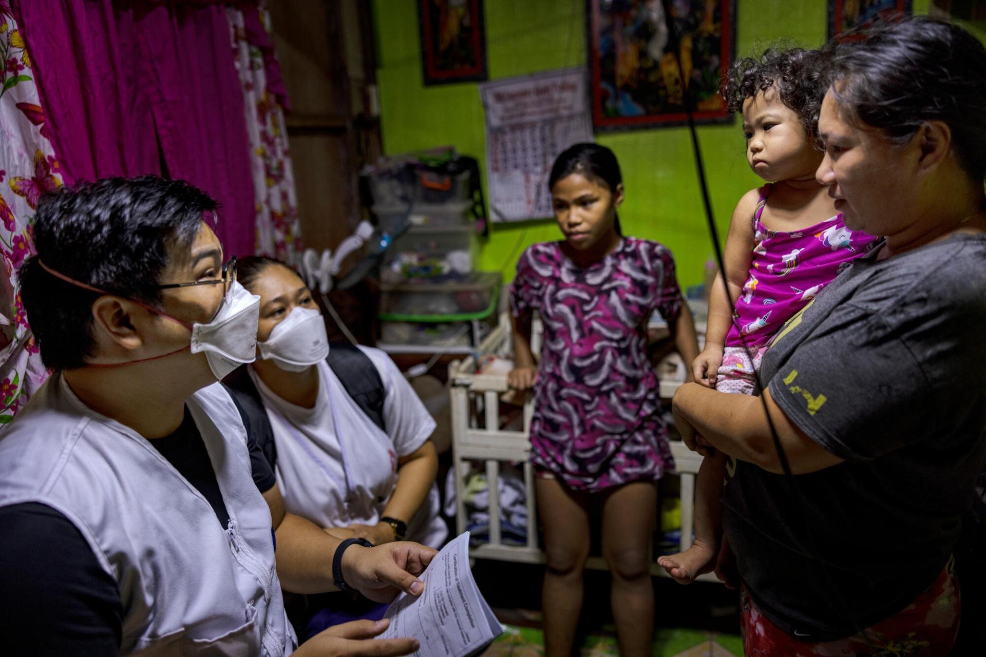
<svg viewBox="0 0 986 657">
<path fill-rule="evenodd" d="M 365 175 L 379 229 L 397 234 L 381 271 L 380 347 L 469 353 L 496 325 L 502 280 L 476 271 L 475 166 L 409 158 Z"/>
</svg>

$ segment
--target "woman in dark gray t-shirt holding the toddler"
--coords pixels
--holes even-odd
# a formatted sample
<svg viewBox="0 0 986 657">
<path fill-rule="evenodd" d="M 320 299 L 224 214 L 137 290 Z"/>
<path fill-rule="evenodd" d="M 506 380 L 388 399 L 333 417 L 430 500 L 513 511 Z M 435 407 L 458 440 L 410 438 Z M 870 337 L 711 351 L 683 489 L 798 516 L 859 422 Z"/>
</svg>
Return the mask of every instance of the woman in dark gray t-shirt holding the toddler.
<svg viewBox="0 0 986 657">
<path fill-rule="evenodd" d="M 688 383 L 675 424 L 737 459 L 747 654 L 947 655 L 986 456 L 986 50 L 915 18 L 827 46 L 821 75 L 817 180 L 882 241 L 777 332 L 760 397 Z"/>
</svg>

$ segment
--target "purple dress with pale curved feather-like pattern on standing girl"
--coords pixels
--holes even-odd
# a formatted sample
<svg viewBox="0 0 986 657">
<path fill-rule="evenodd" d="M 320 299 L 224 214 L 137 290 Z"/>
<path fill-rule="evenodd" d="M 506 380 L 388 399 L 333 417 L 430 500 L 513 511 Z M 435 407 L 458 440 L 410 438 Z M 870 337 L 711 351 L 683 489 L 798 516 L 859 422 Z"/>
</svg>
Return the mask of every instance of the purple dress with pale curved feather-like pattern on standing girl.
<svg viewBox="0 0 986 657">
<path fill-rule="evenodd" d="M 656 309 L 673 324 L 683 299 L 662 244 L 624 237 L 589 267 L 560 242 L 534 244 L 511 287 L 515 316 L 544 324 L 534 384 L 530 460 L 567 487 L 596 492 L 655 481 L 673 467 L 647 358 Z"/>
</svg>

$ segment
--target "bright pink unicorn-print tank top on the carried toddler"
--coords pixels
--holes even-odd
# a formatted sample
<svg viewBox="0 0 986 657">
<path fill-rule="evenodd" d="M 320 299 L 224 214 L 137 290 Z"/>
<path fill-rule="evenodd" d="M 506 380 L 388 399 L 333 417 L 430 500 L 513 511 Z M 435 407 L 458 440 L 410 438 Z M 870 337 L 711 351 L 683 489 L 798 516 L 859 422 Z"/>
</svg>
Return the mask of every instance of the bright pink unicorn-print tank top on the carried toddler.
<svg viewBox="0 0 986 657">
<path fill-rule="evenodd" d="M 727 347 L 766 345 L 785 322 L 877 240 L 847 229 L 842 213 L 804 230 L 770 230 L 760 223 L 770 189 L 770 183 L 763 186 L 753 215 L 753 260 L 733 310 Z"/>
</svg>

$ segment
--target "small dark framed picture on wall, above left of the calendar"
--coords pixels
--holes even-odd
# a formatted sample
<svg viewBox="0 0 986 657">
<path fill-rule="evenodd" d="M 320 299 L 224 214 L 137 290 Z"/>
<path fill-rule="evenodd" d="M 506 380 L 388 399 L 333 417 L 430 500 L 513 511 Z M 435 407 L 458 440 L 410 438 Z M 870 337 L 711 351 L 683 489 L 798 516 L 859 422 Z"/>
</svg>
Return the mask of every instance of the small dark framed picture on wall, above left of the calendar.
<svg viewBox="0 0 986 657">
<path fill-rule="evenodd" d="M 482 0 L 418 0 L 425 86 L 486 79 Z"/>
</svg>

